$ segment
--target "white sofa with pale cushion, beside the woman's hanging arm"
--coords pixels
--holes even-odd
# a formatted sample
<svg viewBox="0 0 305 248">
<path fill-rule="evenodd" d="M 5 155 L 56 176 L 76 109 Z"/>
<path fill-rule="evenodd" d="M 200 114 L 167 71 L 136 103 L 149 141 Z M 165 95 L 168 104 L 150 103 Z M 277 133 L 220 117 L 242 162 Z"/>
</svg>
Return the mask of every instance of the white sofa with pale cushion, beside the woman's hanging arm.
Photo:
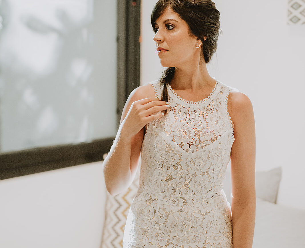
<svg viewBox="0 0 305 248">
<path fill-rule="evenodd" d="M 276 203 L 281 175 L 281 167 L 256 172 L 253 248 L 305 247 L 305 210 Z"/>
</svg>

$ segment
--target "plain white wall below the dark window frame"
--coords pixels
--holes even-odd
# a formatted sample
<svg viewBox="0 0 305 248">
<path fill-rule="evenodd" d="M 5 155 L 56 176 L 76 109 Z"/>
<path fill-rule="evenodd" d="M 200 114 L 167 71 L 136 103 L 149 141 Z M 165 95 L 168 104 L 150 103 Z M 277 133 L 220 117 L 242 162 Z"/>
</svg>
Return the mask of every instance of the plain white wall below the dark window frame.
<svg viewBox="0 0 305 248">
<path fill-rule="evenodd" d="M 0 247 L 100 247 L 102 162 L 1 180 L 0 199 Z"/>
</svg>

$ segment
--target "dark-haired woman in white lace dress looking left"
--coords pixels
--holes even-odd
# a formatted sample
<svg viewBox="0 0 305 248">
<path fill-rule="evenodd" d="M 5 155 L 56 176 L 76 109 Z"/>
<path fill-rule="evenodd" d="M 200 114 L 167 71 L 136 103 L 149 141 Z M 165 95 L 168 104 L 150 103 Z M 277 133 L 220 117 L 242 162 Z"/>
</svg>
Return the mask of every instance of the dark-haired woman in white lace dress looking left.
<svg viewBox="0 0 305 248">
<path fill-rule="evenodd" d="M 104 160 L 106 188 L 117 195 L 141 158 L 124 247 L 252 247 L 253 107 L 206 69 L 219 17 L 210 0 L 160 0 L 152 11 L 154 41 L 168 68 L 130 94 Z M 231 206 L 222 189 L 230 159 Z"/>
</svg>

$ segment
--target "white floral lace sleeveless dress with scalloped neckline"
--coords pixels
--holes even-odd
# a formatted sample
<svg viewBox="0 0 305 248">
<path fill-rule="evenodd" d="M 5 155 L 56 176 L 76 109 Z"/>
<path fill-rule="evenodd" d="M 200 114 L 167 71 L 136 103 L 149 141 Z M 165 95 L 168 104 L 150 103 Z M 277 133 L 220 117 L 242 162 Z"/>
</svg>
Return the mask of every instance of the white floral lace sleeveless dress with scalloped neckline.
<svg viewBox="0 0 305 248">
<path fill-rule="evenodd" d="M 170 108 L 147 125 L 123 248 L 233 247 L 231 206 L 222 189 L 235 140 L 227 109 L 233 88 L 215 80 L 198 102 L 166 85 Z M 163 85 L 149 84 L 160 100 Z"/>
</svg>

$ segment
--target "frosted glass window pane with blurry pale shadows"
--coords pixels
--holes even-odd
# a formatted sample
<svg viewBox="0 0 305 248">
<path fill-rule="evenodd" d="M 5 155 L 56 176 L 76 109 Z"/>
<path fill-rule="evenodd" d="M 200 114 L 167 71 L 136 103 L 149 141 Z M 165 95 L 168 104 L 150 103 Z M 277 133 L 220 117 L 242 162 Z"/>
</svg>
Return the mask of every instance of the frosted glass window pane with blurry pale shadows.
<svg viewBox="0 0 305 248">
<path fill-rule="evenodd" d="M 117 131 L 117 1 L 0 0 L 0 151 Z"/>
</svg>

